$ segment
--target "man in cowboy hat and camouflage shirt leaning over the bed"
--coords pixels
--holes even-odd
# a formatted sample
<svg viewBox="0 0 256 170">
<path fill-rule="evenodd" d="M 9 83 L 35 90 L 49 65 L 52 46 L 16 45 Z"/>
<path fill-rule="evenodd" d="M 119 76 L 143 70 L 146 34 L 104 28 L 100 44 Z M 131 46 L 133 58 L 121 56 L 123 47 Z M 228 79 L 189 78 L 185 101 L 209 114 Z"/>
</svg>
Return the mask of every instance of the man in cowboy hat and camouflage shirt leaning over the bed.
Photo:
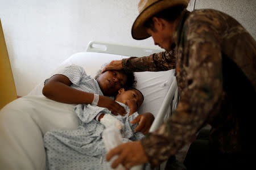
<svg viewBox="0 0 256 170">
<path fill-rule="evenodd" d="M 189 12 L 188 2 L 141 0 L 132 36 L 137 40 L 152 36 L 166 52 L 112 61 L 103 70 L 176 69 L 181 94 L 176 113 L 158 130 L 107 154 L 107 160 L 119 155 L 113 168 L 119 163 L 127 169 L 145 162 L 158 165 L 205 124 L 212 126 L 205 147 L 208 155 L 192 154 L 197 169 L 245 168 L 255 157 L 251 134 L 256 113 L 256 42 L 231 16 L 208 9 Z M 193 169 L 192 164 L 187 168 Z"/>
</svg>

